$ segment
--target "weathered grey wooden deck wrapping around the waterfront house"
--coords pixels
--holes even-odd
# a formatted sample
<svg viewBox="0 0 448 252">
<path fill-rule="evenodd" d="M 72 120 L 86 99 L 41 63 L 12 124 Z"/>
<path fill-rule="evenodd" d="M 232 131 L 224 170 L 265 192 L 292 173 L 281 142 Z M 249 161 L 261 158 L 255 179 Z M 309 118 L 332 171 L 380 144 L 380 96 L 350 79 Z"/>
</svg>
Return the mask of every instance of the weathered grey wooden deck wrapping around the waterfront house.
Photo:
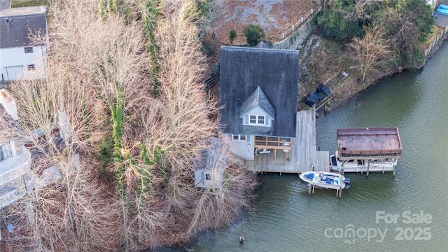
<svg viewBox="0 0 448 252">
<path fill-rule="evenodd" d="M 296 137 L 291 140 L 290 151 L 271 150 L 259 154 L 246 167 L 253 172 L 297 173 L 311 169 L 328 171 L 329 152 L 316 151 L 316 110 L 297 112 Z"/>
</svg>

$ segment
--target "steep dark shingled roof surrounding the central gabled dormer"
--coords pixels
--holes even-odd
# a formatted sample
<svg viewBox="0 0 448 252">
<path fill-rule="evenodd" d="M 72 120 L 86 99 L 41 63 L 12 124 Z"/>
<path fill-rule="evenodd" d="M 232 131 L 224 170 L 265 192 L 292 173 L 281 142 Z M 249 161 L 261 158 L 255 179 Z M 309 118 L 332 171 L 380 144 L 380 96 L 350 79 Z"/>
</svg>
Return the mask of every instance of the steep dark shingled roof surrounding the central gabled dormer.
<svg viewBox="0 0 448 252">
<path fill-rule="evenodd" d="M 297 50 L 221 47 L 219 99 L 224 106 L 223 132 L 295 137 L 298 73 Z M 258 86 L 274 107 L 275 120 L 270 128 L 243 126 L 239 118 L 244 102 Z"/>
</svg>

